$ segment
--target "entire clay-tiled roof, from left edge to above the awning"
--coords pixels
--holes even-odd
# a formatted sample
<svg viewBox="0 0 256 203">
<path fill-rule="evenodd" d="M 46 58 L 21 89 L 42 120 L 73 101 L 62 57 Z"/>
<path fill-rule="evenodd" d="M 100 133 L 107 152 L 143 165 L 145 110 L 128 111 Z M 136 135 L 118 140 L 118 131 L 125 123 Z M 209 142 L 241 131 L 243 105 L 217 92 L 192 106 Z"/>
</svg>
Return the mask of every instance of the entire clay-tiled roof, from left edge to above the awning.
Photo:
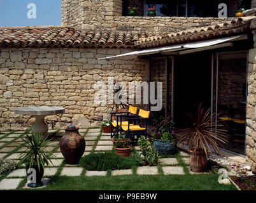
<svg viewBox="0 0 256 203">
<path fill-rule="evenodd" d="M 152 48 L 232 36 L 252 29 L 256 16 L 176 33 L 76 30 L 72 26 L 2 27 L 0 47 Z"/>
</svg>

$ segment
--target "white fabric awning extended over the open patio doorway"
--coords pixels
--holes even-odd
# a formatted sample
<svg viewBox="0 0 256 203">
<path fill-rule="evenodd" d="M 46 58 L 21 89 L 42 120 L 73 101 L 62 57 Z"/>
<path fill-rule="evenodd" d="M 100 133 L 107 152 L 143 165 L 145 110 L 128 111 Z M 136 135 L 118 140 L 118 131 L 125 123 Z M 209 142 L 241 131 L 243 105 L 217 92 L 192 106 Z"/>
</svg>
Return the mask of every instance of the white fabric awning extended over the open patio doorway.
<svg viewBox="0 0 256 203">
<path fill-rule="evenodd" d="M 181 50 L 187 50 L 187 49 L 196 49 L 196 48 L 204 48 L 204 47 L 210 47 L 216 44 L 225 43 L 228 41 L 238 41 L 242 39 L 247 39 L 247 35 L 239 35 L 239 36 L 231 36 L 231 37 L 223 37 L 219 39 L 210 39 L 206 41 L 199 41 L 194 43 L 184 43 L 184 44 L 178 44 L 173 46 L 164 46 L 160 48 L 152 48 L 152 49 L 145 49 L 145 50 L 139 50 L 139 51 L 132 51 L 129 53 L 124 53 L 122 55 L 116 55 L 116 56 L 107 56 L 104 58 L 97 58 L 97 60 L 104 60 L 104 59 L 113 59 L 113 58 L 125 58 L 128 56 L 143 56 L 143 55 L 152 55 L 155 53 L 167 53 L 167 52 L 175 52 L 175 51 L 181 51 Z M 227 44 L 225 44 L 227 46 Z M 229 45 L 231 46 L 231 45 Z M 216 47 L 216 46 L 215 46 Z M 213 48 L 215 48 L 213 46 Z M 171 53 L 170 53 L 171 54 Z"/>
</svg>

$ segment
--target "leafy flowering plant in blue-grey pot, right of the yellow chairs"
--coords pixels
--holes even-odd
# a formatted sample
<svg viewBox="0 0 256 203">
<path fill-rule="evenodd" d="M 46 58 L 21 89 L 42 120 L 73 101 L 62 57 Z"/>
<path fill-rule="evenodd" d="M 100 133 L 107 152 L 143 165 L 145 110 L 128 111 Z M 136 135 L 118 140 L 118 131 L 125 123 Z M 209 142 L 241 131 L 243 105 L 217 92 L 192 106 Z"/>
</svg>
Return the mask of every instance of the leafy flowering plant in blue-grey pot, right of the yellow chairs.
<svg viewBox="0 0 256 203">
<path fill-rule="evenodd" d="M 176 152 L 176 139 L 174 135 L 174 122 L 171 117 L 155 119 L 153 145 L 157 152 L 162 154 L 174 154 Z"/>
</svg>

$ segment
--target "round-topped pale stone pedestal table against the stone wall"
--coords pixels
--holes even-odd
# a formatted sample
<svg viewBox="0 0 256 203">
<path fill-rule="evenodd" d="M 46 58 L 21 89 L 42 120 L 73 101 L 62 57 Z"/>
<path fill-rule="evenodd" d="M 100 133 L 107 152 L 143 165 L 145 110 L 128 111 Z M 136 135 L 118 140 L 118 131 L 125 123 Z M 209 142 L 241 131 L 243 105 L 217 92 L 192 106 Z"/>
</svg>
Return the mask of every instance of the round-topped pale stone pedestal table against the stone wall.
<svg viewBox="0 0 256 203">
<path fill-rule="evenodd" d="M 15 114 L 20 115 L 32 115 L 36 118 L 34 125 L 32 126 L 32 133 L 41 133 L 45 135 L 48 131 L 48 126 L 45 123 L 46 115 L 63 114 L 65 108 L 63 107 L 19 107 L 15 108 Z"/>
</svg>

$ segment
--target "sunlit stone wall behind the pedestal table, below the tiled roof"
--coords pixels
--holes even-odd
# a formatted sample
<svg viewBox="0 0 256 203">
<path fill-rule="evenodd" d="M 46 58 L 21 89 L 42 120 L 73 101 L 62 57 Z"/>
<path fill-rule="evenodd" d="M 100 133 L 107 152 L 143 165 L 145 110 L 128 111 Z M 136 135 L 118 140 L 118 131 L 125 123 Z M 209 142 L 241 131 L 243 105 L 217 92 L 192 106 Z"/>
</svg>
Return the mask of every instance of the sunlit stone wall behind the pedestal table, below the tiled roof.
<svg viewBox="0 0 256 203">
<path fill-rule="evenodd" d="M 146 81 L 146 62 L 97 60 L 129 49 L 78 48 L 1 48 L 0 123 L 1 129 L 31 126 L 31 116 L 15 115 L 16 107 L 61 106 L 62 115 L 46 117 L 49 128 L 99 126 L 108 119 L 113 106 L 94 103 L 97 81 Z"/>
</svg>

